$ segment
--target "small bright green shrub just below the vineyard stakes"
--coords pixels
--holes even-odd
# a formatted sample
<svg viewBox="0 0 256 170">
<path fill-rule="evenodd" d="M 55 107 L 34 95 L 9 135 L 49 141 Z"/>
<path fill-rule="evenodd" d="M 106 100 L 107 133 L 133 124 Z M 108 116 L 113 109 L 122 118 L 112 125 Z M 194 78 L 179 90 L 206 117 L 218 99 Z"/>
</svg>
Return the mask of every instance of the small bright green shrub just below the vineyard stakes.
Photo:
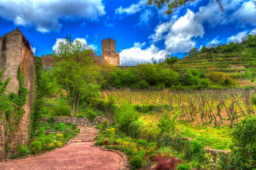
<svg viewBox="0 0 256 170">
<path fill-rule="evenodd" d="M 161 115 L 161 119 L 157 126 L 161 129 L 161 133 L 163 132 L 175 132 L 177 130 L 177 116 L 173 116 L 170 118 L 170 115 L 165 113 L 163 116 Z"/>
</svg>

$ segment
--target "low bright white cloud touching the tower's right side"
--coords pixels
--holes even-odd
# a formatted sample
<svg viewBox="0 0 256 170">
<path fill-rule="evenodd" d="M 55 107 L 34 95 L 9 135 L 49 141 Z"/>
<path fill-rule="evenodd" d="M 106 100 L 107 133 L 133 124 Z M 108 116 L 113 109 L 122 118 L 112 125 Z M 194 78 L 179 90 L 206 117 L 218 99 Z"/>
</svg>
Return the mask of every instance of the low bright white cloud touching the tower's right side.
<svg viewBox="0 0 256 170">
<path fill-rule="evenodd" d="M 120 52 L 120 61 L 127 60 L 130 64 L 137 64 L 140 62 L 150 62 L 151 57 L 155 57 L 157 60 L 159 58 L 165 58 L 167 54 L 165 50 L 159 50 L 154 44 L 146 49 L 141 49 L 145 44 L 146 42 L 137 42 L 133 44 L 133 47 L 122 50 Z"/>
</svg>

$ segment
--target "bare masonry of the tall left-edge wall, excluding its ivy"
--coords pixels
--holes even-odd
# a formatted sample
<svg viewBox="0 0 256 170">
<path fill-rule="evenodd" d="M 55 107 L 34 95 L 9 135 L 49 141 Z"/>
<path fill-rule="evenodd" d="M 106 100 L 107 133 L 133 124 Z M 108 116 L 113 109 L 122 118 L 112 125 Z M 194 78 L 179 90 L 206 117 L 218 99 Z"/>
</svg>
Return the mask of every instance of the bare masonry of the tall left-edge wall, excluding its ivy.
<svg viewBox="0 0 256 170">
<path fill-rule="evenodd" d="M 6 157 L 15 154 L 18 144 L 26 144 L 29 135 L 29 120 L 30 109 L 32 104 L 32 91 L 33 91 L 33 75 L 35 67 L 35 58 L 31 50 L 31 46 L 26 37 L 17 28 L 6 35 L 0 37 L 0 70 L 7 67 L 3 74 L 2 81 L 11 77 L 7 86 L 7 91 L 18 94 L 19 80 L 18 67 L 21 66 L 21 72 L 25 75 L 25 87 L 28 88 L 30 93 L 27 95 L 27 103 L 23 106 L 25 113 L 21 118 L 18 130 L 7 129 L 5 134 L 5 113 L 1 115 L 0 119 L 0 161 Z M 5 143 L 11 145 L 11 150 L 8 155 L 5 155 Z"/>
</svg>

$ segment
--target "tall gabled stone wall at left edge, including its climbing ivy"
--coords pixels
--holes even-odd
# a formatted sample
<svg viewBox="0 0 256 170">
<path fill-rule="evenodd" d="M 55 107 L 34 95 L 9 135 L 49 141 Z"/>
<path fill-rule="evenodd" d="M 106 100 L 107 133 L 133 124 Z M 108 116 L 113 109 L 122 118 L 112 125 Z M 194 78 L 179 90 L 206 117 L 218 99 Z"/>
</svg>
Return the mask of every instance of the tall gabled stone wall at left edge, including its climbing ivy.
<svg viewBox="0 0 256 170">
<path fill-rule="evenodd" d="M 0 101 L 0 161 L 15 154 L 18 144 L 27 143 L 35 70 L 34 54 L 21 31 L 16 29 L 3 37 L 5 41 L 0 37 L 0 63 L 7 69 L 2 82 L 11 79 L 6 89 L 10 93 L 1 94 Z"/>
</svg>

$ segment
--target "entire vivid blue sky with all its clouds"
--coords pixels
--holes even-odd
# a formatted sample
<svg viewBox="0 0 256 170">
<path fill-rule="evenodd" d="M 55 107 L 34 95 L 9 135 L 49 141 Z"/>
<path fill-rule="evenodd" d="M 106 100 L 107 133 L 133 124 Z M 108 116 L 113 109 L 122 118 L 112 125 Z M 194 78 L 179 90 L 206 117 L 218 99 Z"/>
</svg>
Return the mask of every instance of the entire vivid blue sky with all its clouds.
<svg viewBox="0 0 256 170">
<path fill-rule="evenodd" d="M 52 53 L 67 34 L 101 50 L 101 40 L 116 40 L 120 60 L 130 64 L 177 55 L 208 43 L 227 43 L 256 34 L 252 0 L 196 0 L 183 11 L 164 15 L 147 0 L 2 0 L 0 36 L 16 29 L 34 54 Z"/>
</svg>

